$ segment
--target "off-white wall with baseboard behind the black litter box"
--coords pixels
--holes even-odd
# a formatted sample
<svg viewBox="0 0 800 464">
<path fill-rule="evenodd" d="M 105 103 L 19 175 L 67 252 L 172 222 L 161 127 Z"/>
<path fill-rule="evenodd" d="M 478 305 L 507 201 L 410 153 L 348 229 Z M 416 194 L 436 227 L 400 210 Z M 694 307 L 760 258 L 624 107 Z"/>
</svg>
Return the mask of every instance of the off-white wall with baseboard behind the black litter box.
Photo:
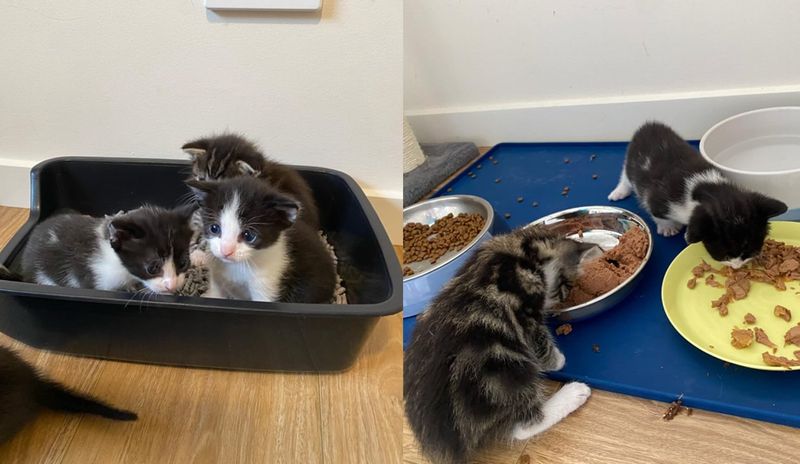
<svg viewBox="0 0 800 464">
<path fill-rule="evenodd" d="M 27 206 L 8 186 L 46 158 L 183 158 L 230 129 L 349 173 L 399 224 L 400 2 L 220 16 L 202 0 L 0 0 L 0 18 L 0 204 Z"/>
</svg>

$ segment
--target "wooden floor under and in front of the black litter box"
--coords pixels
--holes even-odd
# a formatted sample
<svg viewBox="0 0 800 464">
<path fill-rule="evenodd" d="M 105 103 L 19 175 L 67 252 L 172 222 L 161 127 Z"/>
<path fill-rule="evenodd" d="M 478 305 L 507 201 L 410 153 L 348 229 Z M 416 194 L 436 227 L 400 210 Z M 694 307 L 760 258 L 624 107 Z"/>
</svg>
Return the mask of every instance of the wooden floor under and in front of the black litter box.
<svg viewBox="0 0 800 464">
<path fill-rule="evenodd" d="M 27 218 L 0 207 L 0 247 Z M 2 310 L 2 309 L 0 309 Z M 336 375 L 186 369 L 58 355 L 0 335 L 47 375 L 137 422 L 44 413 L 0 463 L 399 463 L 402 319 L 384 318 Z"/>
</svg>

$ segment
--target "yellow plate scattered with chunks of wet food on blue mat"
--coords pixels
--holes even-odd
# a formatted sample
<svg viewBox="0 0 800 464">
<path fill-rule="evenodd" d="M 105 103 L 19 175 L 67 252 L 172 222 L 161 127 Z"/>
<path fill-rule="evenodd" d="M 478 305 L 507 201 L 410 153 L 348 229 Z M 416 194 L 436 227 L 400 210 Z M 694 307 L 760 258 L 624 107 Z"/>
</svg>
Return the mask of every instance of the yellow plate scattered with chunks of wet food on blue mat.
<svg viewBox="0 0 800 464">
<path fill-rule="evenodd" d="M 800 246 L 800 223 L 772 222 L 769 237 Z M 761 327 L 772 343 L 778 345 L 776 355 L 795 359 L 793 352 L 800 350 L 800 347 L 783 346 L 783 334 L 800 322 L 800 295 L 795 293 L 800 292 L 800 282 L 788 282 L 785 292 L 771 285 L 754 282 L 747 297 L 732 302 L 728 306 L 728 315 L 722 317 L 711 307 L 711 301 L 719 298 L 724 293 L 723 289 L 707 286 L 702 278 L 697 279 L 697 286 L 693 290 L 686 286 L 686 282 L 692 278 L 692 268 L 700 264 L 701 259 L 716 268 L 721 266 L 709 256 L 702 244 L 695 243 L 675 257 L 664 275 L 661 302 L 675 330 L 700 350 L 731 364 L 768 371 L 788 371 L 785 367 L 764 364 L 761 353 L 771 352 L 771 349 L 755 341 L 747 348 L 734 348 L 731 345 L 731 330 L 734 326 Z M 792 319 L 786 322 L 775 317 L 772 313 L 775 305 L 789 308 Z M 744 323 L 744 315 L 748 312 L 756 317 L 756 323 L 752 326 Z M 791 370 L 800 370 L 800 367 Z"/>
</svg>

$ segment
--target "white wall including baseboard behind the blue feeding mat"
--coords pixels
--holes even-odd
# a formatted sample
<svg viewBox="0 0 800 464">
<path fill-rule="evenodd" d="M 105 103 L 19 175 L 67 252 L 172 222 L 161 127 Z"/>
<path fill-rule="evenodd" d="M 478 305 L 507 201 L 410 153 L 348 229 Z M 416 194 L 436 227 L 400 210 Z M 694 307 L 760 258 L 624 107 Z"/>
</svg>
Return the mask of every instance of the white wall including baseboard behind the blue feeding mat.
<svg viewBox="0 0 800 464">
<path fill-rule="evenodd" d="M 800 105 L 800 2 L 406 0 L 405 110 L 421 141 L 686 137 Z"/>
</svg>

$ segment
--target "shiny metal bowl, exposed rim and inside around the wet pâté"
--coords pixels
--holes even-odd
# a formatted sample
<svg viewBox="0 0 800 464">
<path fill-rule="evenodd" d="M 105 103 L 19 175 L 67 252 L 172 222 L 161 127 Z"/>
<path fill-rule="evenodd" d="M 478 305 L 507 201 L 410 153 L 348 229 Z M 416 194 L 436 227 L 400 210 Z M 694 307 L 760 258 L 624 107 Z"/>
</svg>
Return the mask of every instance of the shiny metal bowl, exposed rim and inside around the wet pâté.
<svg viewBox="0 0 800 464">
<path fill-rule="evenodd" d="M 642 264 L 610 292 L 600 295 L 586 303 L 566 308 L 559 312 L 558 318 L 563 321 L 578 321 L 597 315 L 616 306 L 624 300 L 639 283 L 650 255 L 653 253 L 653 236 L 650 228 L 638 215 L 613 206 L 582 206 L 567 209 L 538 219 L 526 227 L 540 225 L 579 242 L 597 244 L 603 251 L 608 251 L 619 243 L 619 237 L 632 227 L 638 227 L 647 233 L 647 254 Z M 578 231 L 582 230 L 581 233 Z M 595 258 L 596 254 L 584 255 L 582 263 Z"/>
</svg>

